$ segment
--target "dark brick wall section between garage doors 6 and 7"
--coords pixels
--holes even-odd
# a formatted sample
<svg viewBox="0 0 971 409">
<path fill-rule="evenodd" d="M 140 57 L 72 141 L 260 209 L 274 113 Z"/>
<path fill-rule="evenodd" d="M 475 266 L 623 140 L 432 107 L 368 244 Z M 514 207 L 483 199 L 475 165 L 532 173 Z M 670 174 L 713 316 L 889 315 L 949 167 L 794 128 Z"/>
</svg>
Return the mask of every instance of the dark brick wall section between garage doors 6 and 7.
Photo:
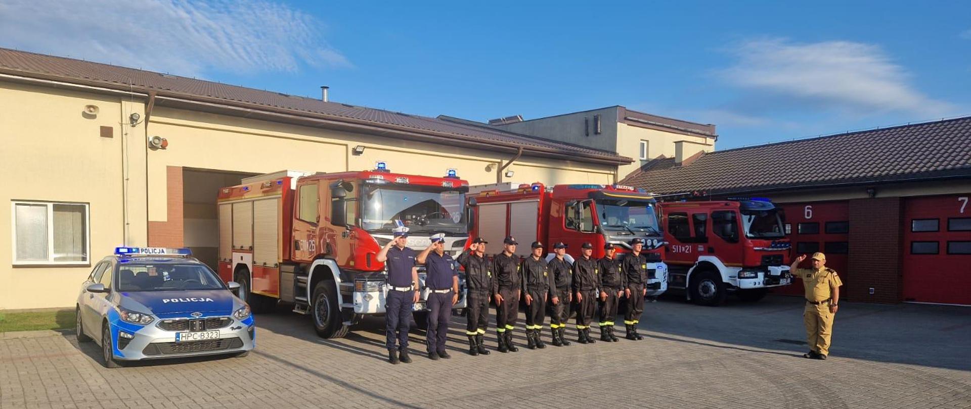
<svg viewBox="0 0 971 409">
<path fill-rule="evenodd" d="M 903 300 L 903 205 L 899 198 L 850 201 L 851 283 L 841 290 L 847 299 L 866 302 Z M 870 294 L 870 288 L 874 294 Z"/>
</svg>

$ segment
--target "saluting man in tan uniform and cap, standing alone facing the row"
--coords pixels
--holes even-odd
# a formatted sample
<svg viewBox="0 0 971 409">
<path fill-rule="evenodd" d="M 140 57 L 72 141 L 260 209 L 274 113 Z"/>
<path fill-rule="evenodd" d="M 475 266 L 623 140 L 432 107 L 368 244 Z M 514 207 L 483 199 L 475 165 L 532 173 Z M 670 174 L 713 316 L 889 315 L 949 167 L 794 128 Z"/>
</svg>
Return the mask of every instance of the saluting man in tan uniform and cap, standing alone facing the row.
<svg viewBox="0 0 971 409">
<path fill-rule="evenodd" d="M 806 309 L 802 317 L 806 323 L 809 353 L 803 354 L 803 358 L 825 360 L 829 355 L 829 337 L 833 330 L 833 317 L 839 308 L 837 305 L 843 281 L 840 281 L 836 271 L 826 267 L 824 254 L 813 254 L 812 268 L 797 268 L 803 260 L 806 260 L 805 254 L 796 258 L 789 267 L 792 275 L 802 278 L 802 284 L 806 287 Z"/>
</svg>

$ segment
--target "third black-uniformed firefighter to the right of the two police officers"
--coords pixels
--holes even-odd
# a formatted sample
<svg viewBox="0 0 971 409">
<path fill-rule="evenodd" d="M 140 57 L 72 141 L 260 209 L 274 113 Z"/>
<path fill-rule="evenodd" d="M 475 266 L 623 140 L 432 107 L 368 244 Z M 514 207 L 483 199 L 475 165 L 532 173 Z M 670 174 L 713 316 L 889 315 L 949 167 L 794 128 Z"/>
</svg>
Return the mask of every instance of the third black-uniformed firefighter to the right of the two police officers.
<svg viewBox="0 0 971 409">
<path fill-rule="evenodd" d="M 526 348 L 543 349 L 543 321 L 546 318 L 547 300 L 550 297 L 550 268 L 543 258 L 543 243 L 533 241 L 532 254 L 522 260 L 522 294 L 526 298 Z"/>
</svg>

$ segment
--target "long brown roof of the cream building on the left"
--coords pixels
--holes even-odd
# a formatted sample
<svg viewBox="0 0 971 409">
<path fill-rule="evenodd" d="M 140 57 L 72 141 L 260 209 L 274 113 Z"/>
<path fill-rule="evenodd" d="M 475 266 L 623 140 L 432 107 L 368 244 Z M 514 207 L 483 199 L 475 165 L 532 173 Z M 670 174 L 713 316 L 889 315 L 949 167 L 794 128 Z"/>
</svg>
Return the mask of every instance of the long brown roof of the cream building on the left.
<svg viewBox="0 0 971 409">
<path fill-rule="evenodd" d="M 64 82 L 95 84 L 118 90 L 135 92 L 155 91 L 158 96 L 177 97 L 186 100 L 204 98 L 237 107 L 251 109 L 286 110 L 294 115 L 313 114 L 332 120 L 364 121 L 372 126 L 407 128 L 413 132 L 441 137 L 444 143 L 461 145 L 469 139 L 502 146 L 521 146 L 526 154 L 544 155 L 556 153 L 568 155 L 581 162 L 628 164 L 632 159 L 615 152 L 592 149 L 585 146 L 554 142 L 500 129 L 485 129 L 427 116 L 389 110 L 352 106 L 318 99 L 286 95 L 242 86 L 229 85 L 202 79 L 189 79 L 151 71 L 137 70 L 114 65 L 100 64 L 71 58 L 56 57 L 0 48 L 0 74 L 38 79 L 56 79 Z M 450 140 L 450 136 L 455 138 Z"/>
</svg>

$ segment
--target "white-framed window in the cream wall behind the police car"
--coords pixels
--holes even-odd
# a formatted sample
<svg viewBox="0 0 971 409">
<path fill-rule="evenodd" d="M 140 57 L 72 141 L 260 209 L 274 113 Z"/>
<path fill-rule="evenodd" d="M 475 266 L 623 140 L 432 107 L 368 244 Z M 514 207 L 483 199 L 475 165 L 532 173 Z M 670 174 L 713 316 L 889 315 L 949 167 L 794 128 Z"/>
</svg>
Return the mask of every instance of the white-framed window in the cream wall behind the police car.
<svg viewBox="0 0 971 409">
<path fill-rule="evenodd" d="M 15 265 L 88 263 L 87 204 L 13 202 Z"/>
</svg>

